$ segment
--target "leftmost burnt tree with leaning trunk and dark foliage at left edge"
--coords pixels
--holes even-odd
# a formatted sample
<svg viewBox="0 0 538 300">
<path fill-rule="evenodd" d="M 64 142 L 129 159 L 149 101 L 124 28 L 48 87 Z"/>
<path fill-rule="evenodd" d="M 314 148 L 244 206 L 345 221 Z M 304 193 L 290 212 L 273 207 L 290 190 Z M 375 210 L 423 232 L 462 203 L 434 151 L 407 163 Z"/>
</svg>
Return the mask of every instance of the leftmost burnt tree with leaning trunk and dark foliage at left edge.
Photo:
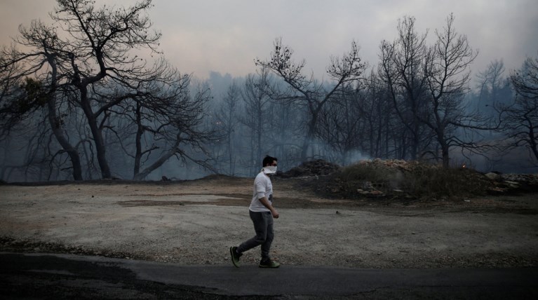
<svg viewBox="0 0 538 300">
<path fill-rule="evenodd" d="M 53 27 L 47 27 L 34 21 L 29 28 L 19 28 L 21 36 L 16 43 L 30 50 L 20 51 L 16 48 L 4 48 L 1 56 L 2 81 L 13 84 L 24 79 L 20 87 L 23 93 L 4 94 L 6 102 L 0 111 L 6 123 L 3 130 L 9 130 L 25 118 L 32 118 L 34 111 L 46 110 L 48 123 L 55 139 L 61 146 L 58 153 L 67 153 L 72 163 L 72 175 L 75 180 L 82 179 L 79 152 L 69 142 L 65 134 L 62 116 L 59 114 L 61 103 L 65 99 L 65 43 L 59 38 Z M 16 85 L 15 85 L 16 86 Z M 13 91 L 13 88 L 11 88 Z M 6 90 L 4 90 L 6 91 Z"/>
</svg>

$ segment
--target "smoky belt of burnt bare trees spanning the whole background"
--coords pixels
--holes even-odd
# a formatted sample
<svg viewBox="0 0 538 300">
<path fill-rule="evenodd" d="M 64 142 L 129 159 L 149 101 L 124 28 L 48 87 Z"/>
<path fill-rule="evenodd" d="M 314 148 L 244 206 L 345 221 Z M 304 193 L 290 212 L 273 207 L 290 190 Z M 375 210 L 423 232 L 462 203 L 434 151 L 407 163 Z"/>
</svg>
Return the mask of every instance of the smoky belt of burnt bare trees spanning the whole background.
<svg viewBox="0 0 538 300">
<path fill-rule="evenodd" d="M 250 177 L 271 154 L 283 170 L 348 166 L 328 184 L 342 195 L 368 191 L 357 187 L 368 175 L 384 195 L 441 197 L 487 191 L 473 168 L 537 171 L 538 58 L 509 74 L 494 60 L 473 78 L 479 53 L 455 15 L 432 32 L 397 20 L 377 64 L 351 41 L 326 74 L 309 74 L 278 38 L 246 78 L 199 81 L 161 53 L 152 6 L 58 0 L 50 20 L 20 26 L 0 51 L 1 180 Z"/>
</svg>

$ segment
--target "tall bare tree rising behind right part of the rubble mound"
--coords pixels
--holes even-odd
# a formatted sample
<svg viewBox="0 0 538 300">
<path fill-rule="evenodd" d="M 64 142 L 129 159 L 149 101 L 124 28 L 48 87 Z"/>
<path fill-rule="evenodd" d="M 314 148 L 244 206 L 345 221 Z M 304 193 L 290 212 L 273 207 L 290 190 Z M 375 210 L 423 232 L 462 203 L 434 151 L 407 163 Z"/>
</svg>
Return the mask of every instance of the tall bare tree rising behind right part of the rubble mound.
<svg viewBox="0 0 538 300">
<path fill-rule="evenodd" d="M 459 146 L 471 151 L 480 149 L 473 130 L 491 129 L 481 114 L 466 113 L 464 95 L 469 91 L 469 65 L 478 53 L 467 37 L 454 28 L 449 15 L 443 32 L 436 31 L 437 41 L 426 55 L 426 117 L 420 120 L 436 135 L 443 166 L 450 165 L 450 148 Z M 462 132 L 457 132 L 462 130 Z"/>
</svg>

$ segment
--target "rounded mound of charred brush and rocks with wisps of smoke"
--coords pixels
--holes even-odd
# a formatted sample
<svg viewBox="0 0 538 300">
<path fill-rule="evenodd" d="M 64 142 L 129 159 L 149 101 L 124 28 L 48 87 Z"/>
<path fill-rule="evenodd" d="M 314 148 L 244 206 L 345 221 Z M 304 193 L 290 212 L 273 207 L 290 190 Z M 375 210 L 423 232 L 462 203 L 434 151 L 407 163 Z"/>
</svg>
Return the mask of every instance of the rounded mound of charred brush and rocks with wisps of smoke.
<svg viewBox="0 0 538 300">
<path fill-rule="evenodd" d="M 330 198 L 461 198 L 478 196 L 491 182 L 469 168 L 417 161 L 361 161 L 332 174 L 322 189 Z"/>
</svg>

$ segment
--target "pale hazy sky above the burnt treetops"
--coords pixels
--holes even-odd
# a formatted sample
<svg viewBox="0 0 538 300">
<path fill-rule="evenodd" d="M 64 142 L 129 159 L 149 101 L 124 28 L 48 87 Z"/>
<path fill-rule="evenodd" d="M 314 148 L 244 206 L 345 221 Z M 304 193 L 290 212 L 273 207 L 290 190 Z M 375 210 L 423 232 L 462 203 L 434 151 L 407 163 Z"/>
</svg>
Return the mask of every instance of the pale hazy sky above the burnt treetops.
<svg viewBox="0 0 538 300">
<path fill-rule="evenodd" d="M 128 0 L 97 0 L 116 6 Z M 307 61 L 306 71 L 323 76 L 330 55 L 361 46 L 370 66 L 378 62 L 379 42 L 394 40 L 398 18 L 414 16 L 419 32 L 442 29 L 450 13 L 455 29 L 479 49 L 473 71 L 492 60 L 507 70 L 538 54 L 536 0 L 154 0 L 149 12 L 162 34 L 165 56 L 184 73 L 207 78 L 210 71 L 232 76 L 255 72 L 253 60 L 269 57 L 281 37 Z M 55 0 L 0 0 L 0 43 L 32 19 L 49 21 Z"/>
</svg>

